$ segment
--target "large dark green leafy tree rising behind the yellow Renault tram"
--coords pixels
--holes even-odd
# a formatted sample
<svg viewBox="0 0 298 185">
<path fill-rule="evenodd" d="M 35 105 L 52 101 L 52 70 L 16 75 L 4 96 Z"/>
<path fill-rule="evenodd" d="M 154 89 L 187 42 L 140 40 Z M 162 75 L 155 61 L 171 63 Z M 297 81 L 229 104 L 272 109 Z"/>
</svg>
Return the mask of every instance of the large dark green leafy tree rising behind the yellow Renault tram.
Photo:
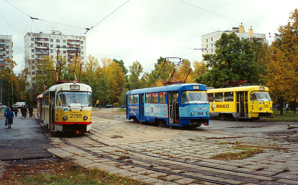
<svg viewBox="0 0 298 185">
<path fill-rule="evenodd" d="M 260 58 L 256 55 L 255 47 L 263 47 L 258 42 L 240 40 L 234 32 L 223 33 L 215 43 L 215 54 L 203 55 L 207 68 L 211 69 L 195 81 L 215 88 L 222 87 L 230 79 L 250 80 L 252 84 L 266 83 L 260 75 L 267 73 L 266 66 L 260 65 Z"/>
</svg>

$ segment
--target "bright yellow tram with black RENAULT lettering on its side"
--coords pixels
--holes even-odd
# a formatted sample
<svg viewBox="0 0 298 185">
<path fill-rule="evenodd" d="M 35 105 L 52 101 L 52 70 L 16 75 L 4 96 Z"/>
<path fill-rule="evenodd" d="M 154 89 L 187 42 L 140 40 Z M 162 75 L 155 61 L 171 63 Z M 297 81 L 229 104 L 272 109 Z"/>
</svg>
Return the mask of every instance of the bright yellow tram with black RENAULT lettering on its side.
<svg viewBox="0 0 298 185">
<path fill-rule="evenodd" d="M 210 102 L 210 116 L 226 118 L 272 117 L 272 101 L 268 87 L 240 86 L 207 89 Z"/>
</svg>

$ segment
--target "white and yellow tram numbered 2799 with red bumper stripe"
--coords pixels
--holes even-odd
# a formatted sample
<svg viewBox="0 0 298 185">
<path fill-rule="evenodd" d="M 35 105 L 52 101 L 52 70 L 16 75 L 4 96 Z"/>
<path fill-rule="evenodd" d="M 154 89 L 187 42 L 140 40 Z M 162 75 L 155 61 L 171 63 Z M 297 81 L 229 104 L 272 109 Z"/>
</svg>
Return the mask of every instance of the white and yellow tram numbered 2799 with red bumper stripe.
<svg viewBox="0 0 298 185">
<path fill-rule="evenodd" d="M 63 83 L 42 95 L 42 121 L 52 132 L 89 132 L 92 116 L 92 90 L 83 83 Z"/>
</svg>

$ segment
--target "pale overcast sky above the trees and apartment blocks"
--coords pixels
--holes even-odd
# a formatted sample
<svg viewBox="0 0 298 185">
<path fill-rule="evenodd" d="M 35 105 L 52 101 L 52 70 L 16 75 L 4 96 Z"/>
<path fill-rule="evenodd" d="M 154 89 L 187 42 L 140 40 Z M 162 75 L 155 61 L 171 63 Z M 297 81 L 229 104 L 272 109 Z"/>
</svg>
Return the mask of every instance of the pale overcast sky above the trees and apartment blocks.
<svg viewBox="0 0 298 185">
<path fill-rule="evenodd" d="M 201 51 L 194 49 L 201 48 L 202 35 L 231 30 L 241 22 L 245 32 L 252 26 L 271 43 L 268 33 L 278 33 L 297 5 L 295 0 L 0 0 L 0 35 L 13 36 L 15 73 L 24 68 L 27 32 L 58 29 L 63 35 L 83 36 L 92 26 L 84 35 L 87 56 L 100 65 L 102 57 L 122 59 L 128 69 L 138 61 L 150 72 L 160 56 L 201 61 Z"/>
</svg>

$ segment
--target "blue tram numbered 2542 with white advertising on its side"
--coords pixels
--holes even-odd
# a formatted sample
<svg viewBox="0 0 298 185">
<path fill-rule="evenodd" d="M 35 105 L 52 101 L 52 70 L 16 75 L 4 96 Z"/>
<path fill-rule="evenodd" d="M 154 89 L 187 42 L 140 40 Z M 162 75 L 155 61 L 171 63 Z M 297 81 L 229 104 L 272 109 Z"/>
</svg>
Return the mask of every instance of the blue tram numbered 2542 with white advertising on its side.
<svg viewBox="0 0 298 185">
<path fill-rule="evenodd" d="M 126 93 L 126 119 L 158 126 L 209 125 L 210 104 L 202 84 L 172 84 Z"/>
</svg>

